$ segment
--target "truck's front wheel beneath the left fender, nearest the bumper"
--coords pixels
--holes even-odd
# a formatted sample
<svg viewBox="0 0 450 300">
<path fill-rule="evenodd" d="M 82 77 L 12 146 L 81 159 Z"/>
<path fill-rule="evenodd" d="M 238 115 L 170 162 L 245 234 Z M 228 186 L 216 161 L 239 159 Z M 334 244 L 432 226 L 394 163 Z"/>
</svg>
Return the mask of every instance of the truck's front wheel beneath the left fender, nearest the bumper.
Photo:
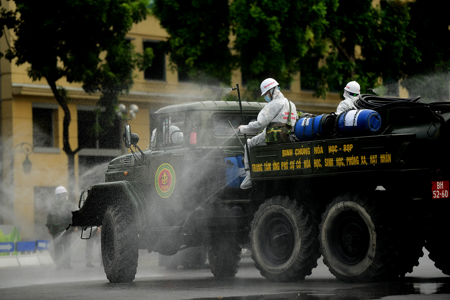
<svg viewBox="0 0 450 300">
<path fill-rule="evenodd" d="M 108 206 L 103 215 L 101 248 L 109 282 L 132 282 L 138 266 L 138 247 L 130 210 Z"/>
</svg>

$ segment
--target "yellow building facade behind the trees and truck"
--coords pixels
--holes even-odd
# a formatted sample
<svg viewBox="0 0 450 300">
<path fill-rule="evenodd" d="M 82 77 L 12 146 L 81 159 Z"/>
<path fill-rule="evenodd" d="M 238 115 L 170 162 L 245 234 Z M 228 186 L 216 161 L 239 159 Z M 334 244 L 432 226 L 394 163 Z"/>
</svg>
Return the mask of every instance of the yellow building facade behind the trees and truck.
<svg viewBox="0 0 450 300">
<path fill-rule="evenodd" d="M 127 34 L 142 52 L 144 47 L 157 45 L 167 37 L 159 22 L 149 16 L 136 24 Z M 6 40 L 8 39 L 8 41 Z M 0 39 L 2 53 L 13 43 L 12 32 Z M 151 118 L 158 108 L 175 103 L 217 99 L 214 87 L 204 87 L 178 81 L 178 75 L 169 64 L 169 57 L 159 53 L 152 68 L 136 72 L 135 85 L 120 102 L 130 107 L 136 104 L 139 112 L 127 122 L 140 138 L 144 149 L 150 144 Z M 45 228 L 45 217 L 51 205 L 54 188 L 67 187 L 67 156 L 63 152 L 63 111 L 56 103 L 47 82 L 32 81 L 27 76 L 27 65 L 17 66 L 0 59 L 1 90 L 1 201 L 0 224 L 14 224 L 21 228 L 23 240 L 50 236 Z M 242 87 L 241 74 L 233 72 L 233 84 Z M 82 188 L 102 182 L 108 161 L 123 153 L 121 135 L 123 123 L 106 136 L 91 137 L 85 134 L 86 123 L 92 122 L 98 94 L 86 94 L 80 84 L 57 82 L 69 92 L 72 122 L 69 139 L 72 149 L 84 147 L 75 156 L 75 186 Z M 330 93 L 318 99 L 312 91 L 302 91 L 297 75 L 290 90 L 282 90 L 297 108 L 314 114 L 334 111 L 342 93 Z M 31 163 L 31 170 L 27 170 Z M 74 204 L 74 208 L 76 203 Z"/>
</svg>

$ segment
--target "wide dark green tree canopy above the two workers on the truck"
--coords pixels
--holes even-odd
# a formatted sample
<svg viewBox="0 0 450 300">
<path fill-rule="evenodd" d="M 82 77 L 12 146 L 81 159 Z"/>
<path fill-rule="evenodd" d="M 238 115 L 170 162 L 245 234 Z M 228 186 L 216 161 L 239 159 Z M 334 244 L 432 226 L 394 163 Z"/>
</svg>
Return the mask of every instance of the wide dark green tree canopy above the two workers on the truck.
<svg viewBox="0 0 450 300">
<path fill-rule="evenodd" d="M 229 84 L 237 67 L 247 88 L 257 91 L 267 77 L 287 86 L 300 71 L 302 89 L 325 97 L 352 80 L 365 92 L 364 86 L 374 87 L 380 77 L 396 82 L 415 70 L 445 69 L 449 5 L 436 9 L 425 0 L 381 1 L 377 7 L 372 0 L 155 0 L 153 12 L 170 35 L 166 51 L 172 62 L 195 70 L 193 78 L 202 71 Z M 440 31 L 430 38 L 434 27 Z"/>
</svg>

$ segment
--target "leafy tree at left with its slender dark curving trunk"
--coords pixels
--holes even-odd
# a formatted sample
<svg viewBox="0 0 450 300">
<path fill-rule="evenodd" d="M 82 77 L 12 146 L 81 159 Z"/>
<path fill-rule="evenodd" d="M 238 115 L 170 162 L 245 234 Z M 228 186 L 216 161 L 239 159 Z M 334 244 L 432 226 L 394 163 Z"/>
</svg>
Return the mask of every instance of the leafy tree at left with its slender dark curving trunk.
<svg viewBox="0 0 450 300">
<path fill-rule="evenodd" d="M 132 54 L 125 39 L 133 23 L 146 18 L 145 0 L 15 0 L 17 9 L 1 11 L 2 22 L 14 28 L 14 45 L 5 57 L 16 64 L 29 63 L 28 76 L 45 78 L 64 112 L 63 150 L 68 158 L 69 190 L 74 193 L 74 156 L 68 127 L 71 122 L 65 89 L 56 86 L 62 77 L 82 82 L 86 92 L 102 93 L 99 104 L 108 116 L 117 104 L 117 95 L 133 84 L 132 69 L 143 68 L 151 60 L 151 50 Z M 11 23 L 11 17 L 17 17 Z M 105 56 L 106 55 L 106 56 Z M 108 118 L 106 118 L 108 119 Z"/>
</svg>

